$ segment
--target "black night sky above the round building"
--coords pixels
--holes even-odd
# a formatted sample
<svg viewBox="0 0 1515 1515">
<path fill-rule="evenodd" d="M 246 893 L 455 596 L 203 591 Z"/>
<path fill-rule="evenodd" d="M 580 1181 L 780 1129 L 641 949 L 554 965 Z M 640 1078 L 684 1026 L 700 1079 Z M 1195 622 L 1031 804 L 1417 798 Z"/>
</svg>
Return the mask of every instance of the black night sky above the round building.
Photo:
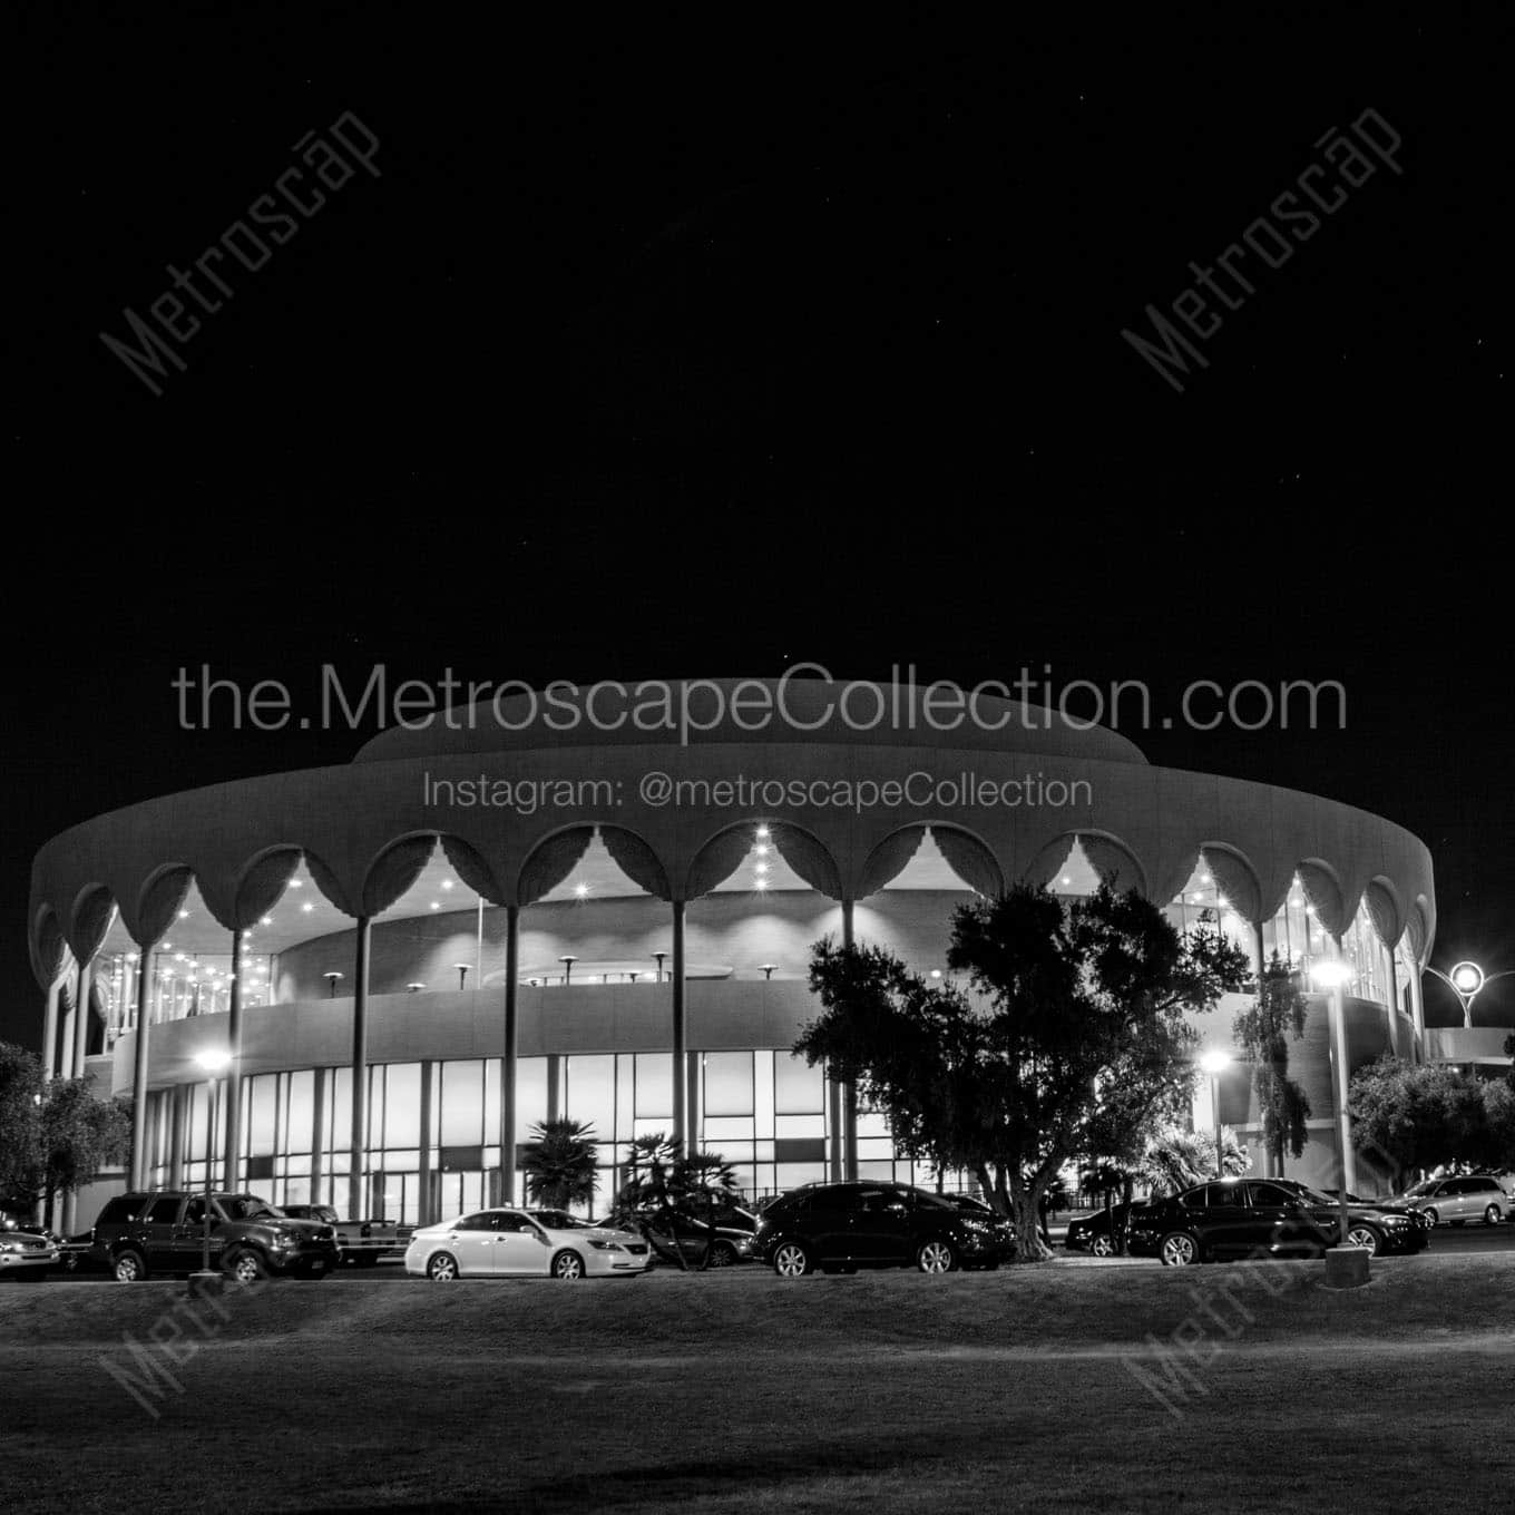
<svg viewBox="0 0 1515 1515">
<path fill-rule="evenodd" d="M 1127 735 L 1404 824 L 1435 961 L 1515 968 L 1492 23 L 91 9 L 8 20 L 0 1038 L 38 1039 L 50 835 L 362 739 L 183 733 L 201 664 L 1339 679 L 1341 732 Z M 1370 109 L 1403 173 L 1251 258 L 1176 392 L 1121 329 Z M 100 332 L 344 112 L 379 176 L 229 273 L 153 397 Z"/>
</svg>

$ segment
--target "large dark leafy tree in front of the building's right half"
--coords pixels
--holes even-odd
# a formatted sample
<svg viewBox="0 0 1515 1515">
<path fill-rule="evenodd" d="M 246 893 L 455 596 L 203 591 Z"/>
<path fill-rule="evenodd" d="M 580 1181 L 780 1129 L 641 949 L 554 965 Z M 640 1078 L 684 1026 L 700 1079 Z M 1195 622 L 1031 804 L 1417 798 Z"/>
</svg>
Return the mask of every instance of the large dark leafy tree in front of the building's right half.
<svg viewBox="0 0 1515 1515">
<path fill-rule="evenodd" d="M 818 942 L 823 1014 L 795 1050 L 859 1085 L 904 1151 L 973 1173 L 1014 1217 L 1018 1256 L 1038 1260 L 1038 1204 L 1086 1150 L 1098 1089 L 1188 1077 L 1185 1014 L 1238 989 L 1247 961 L 1218 935 L 1180 936 L 1135 891 L 1065 906 L 1015 888 L 954 914 L 947 962 L 968 988 L 927 983 L 877 947 Z"/>
</svg>

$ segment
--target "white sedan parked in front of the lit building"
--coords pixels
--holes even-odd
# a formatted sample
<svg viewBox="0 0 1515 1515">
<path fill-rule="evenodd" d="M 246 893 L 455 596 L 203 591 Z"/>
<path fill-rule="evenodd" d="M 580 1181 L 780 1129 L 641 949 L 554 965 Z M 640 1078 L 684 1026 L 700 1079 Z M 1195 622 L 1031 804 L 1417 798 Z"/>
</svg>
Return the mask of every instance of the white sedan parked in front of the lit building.
<svg viewBox="0 0 1515 1515">
<path fill-rule="evenodd" d="M 576 1220 L 567 1210 L 477 1210 L 415 1232 L 405 1271 L 453 1279 L 636 1277 L 651 1253 L 641 1236 Z"/>
</svg>

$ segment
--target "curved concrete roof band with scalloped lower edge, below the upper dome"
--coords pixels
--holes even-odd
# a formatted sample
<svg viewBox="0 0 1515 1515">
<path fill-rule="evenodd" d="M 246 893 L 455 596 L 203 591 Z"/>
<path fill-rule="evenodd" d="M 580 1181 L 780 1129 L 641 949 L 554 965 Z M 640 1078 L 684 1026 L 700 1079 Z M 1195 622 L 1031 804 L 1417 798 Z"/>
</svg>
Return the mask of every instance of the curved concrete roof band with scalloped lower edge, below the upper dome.
<svg viewBox="0 0 1515 1515">
<path fill-rule="evenodd" d="M 97 950 L 111 904 L 133 941 L 152 944 L 174 920 L 191 880 L 224 929 L 241 929 L 279 897 L 303 857 L 338 911 L 373 915 L 405 894 L 439 836 L 470 889 L 495 904 L 529 904 L 542 897 L 542 859 L 556 839 L 600 827 L 648 892 L 686 898 L 729 873 L 729 833 L 758 821 L 771 823 L 786 861 L 833 897 L 865 898 L 892 877 L 891 870 L 903 867 L 897 838 L 904 830 L 929 826 L 944 841 L 956 835 L 959 856 L 961 848 L 976 853 L 976 877 L 998 883 L 1044 882 L 1077 835 L 1106 867 L 1129 861 L 1121 877 L 1156 903 L 1182 889 L 1209 848 L 1247 870 L 1260 918 L 1277 911 L 1295 871 L 1307 867 L 1333 883 L 1342 921 L 1376 885 L 1376 918 L 1383 917 L 1392 941 L 1407 933 L 1424 961 L 1435 938 L 1432 861 L 1423 842 L 1353 806 L 1238 779 L 1124 759 L 815 738 L 594 742 L 388 759 L 374 745 L 359 765 L 148 800 L 53 838 L 32 868 L 29 930 L 39 982 L 56 976 L 65 941 L 80 957 Z M 591 780 L 600 788 L 530 814 L 439 806 L 427 797 L 427 782 L 474 780 L 480 773 L 514 783 Z M 639 783 L 651 773 L 688 785 L 683 803 L 644 797 Z M 968 776 L 973 785 L 1039 774 L 1086 788 L 1077 803 L 1060 807 L 914 803 L 898 795 L 895 803 L 857 806 L 833 798 L 838 785 L 851 785 L 856 795 L 921 773 L 950 782 Z M 801 786 L 820 780 L 823 788 L 801 788 L 783 803 L 742 804 L 718 792 L 721 780 L 733 785 L 741 777 Z"/>
</svg>

